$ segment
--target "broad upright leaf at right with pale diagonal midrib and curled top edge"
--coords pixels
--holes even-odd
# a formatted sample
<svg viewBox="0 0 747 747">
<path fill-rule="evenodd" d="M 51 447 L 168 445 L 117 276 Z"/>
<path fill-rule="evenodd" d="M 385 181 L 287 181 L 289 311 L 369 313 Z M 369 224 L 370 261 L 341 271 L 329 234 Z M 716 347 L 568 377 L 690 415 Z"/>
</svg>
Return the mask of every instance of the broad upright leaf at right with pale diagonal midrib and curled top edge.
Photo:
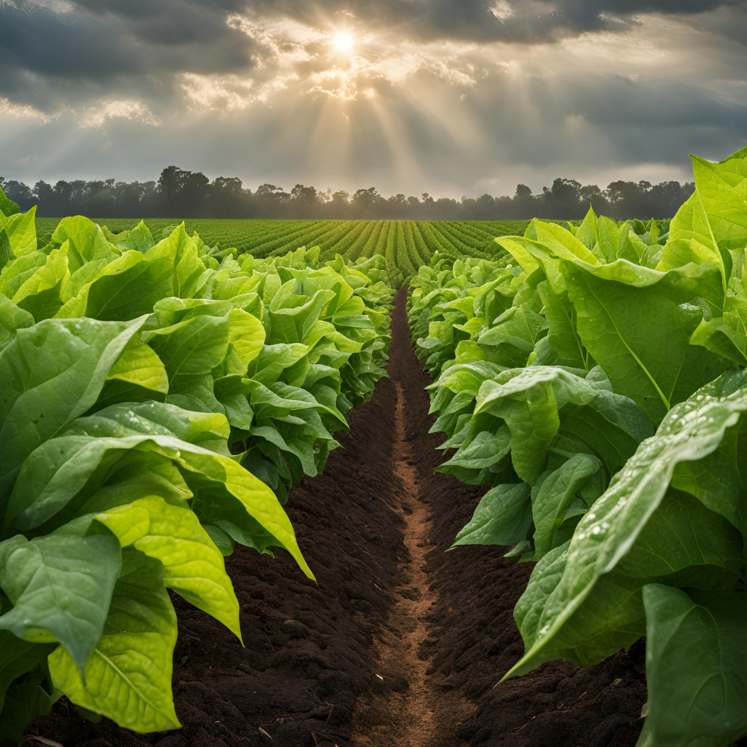
<svg viewBox="0 0 747 747">
<path fill-rule="evenodd" d="M 581 248 L 560 236 L 560 226 L 535 221 L 533 227 L 541 241 L 498 241 L 511 252 L 520 247 L 532 255 L 548 276 L 560 267 L 583 347 L 604 368 L 614 391 L 639 403 L 652 421 L 725 369 L 717 356 L 689 344 L 703 309 L 720 313 L 724 303 L 716 259 L 706 256 L 701 264 L 666 271 L 627 259 L 600 264 L 580 242 Z"/>
</svg>

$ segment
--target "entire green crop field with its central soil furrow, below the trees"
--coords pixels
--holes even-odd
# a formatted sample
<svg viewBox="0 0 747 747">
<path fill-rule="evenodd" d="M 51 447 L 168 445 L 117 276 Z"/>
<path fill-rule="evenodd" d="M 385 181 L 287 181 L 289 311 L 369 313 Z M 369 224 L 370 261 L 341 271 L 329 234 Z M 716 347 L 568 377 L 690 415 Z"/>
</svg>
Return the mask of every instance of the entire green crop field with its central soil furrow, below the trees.
<svg viewBox="0 0 747 747">
<path fill-rule="evenodd" d="M 528 226 L 0 193 L 2 733 L 738 743 L 746 184 Z"/>
</svg>

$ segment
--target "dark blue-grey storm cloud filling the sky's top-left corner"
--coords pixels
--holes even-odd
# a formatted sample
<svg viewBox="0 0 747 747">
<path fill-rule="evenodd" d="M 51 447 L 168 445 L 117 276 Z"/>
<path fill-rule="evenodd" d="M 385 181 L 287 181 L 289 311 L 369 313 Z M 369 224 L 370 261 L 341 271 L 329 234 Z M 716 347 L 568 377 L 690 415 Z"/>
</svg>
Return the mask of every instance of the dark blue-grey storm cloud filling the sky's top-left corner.
<svg viewBox="0 0 747 747">
<path fill-rule="evenodd" d="M 123 91 L 168 99 L 185 70 L 249 71 L 255 45 L 226 24 L 237 4 L 84 0 L 66 13 L 0 5 L 0 96 L 49 113 Z"/>
</svg>

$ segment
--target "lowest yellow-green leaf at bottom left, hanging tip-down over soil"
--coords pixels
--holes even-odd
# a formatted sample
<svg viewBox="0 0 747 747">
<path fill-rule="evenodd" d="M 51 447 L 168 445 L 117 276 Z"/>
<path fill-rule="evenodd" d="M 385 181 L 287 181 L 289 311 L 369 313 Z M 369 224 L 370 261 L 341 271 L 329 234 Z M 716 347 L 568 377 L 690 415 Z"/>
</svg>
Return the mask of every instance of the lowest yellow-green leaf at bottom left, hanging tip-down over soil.
<svg viewBox="0 0 747 747">
<path fill-rule="evenodd" d="M 70 700 L 120 726 L 149 733 L 179 728 L 171 692 L 176 613 L 158 560 L 129 548 L 83 680 L 63 648 L 49 657 L 55 686 Z"/>
</svg>

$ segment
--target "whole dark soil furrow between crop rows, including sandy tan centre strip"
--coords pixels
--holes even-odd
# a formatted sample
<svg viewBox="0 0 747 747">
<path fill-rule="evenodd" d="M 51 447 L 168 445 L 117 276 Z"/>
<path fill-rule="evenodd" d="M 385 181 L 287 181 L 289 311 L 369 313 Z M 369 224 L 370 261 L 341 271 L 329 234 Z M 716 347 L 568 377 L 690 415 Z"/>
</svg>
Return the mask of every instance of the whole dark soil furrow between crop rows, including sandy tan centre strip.
<svg viewBox="0 0 747 747">
<path fill-rule="evenodd" d="M 246 648 L 175 598 L 181 731 L 94 725 L 63 699 L 29 734 L 64 747 L 635 745 L 642 645 L 494 688 L 523 651 L 512 610 L 533 564 L 504 559 L 506 548 L 444 552 L 484 489 L 433 473 L 442 438 L 428 433 L 430 379 L 410 347 L 404 291 L 396 303 L 391 381 L 288 502 L 318 588 L 285 553 L 238 548 L 227 564 Z"/>
</svg>

